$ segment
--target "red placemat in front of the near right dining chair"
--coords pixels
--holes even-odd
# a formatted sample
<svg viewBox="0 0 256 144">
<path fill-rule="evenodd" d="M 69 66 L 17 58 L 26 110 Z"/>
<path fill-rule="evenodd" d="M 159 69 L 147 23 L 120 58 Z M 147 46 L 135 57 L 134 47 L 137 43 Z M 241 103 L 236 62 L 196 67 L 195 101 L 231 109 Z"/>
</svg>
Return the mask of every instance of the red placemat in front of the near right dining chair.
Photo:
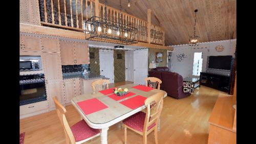
<svg viewBox="0 0 256 144">
<path fill-rule="evenodd" d="M 137 95 L 136 97 L 120 102 L 120 104 L 125 105 L 130 109 L 136 109 L 140 106 L 143 106 L 145 100 L 146 100 L 145 97 L 142 97 L 141 95 Z"/>
</svg>

